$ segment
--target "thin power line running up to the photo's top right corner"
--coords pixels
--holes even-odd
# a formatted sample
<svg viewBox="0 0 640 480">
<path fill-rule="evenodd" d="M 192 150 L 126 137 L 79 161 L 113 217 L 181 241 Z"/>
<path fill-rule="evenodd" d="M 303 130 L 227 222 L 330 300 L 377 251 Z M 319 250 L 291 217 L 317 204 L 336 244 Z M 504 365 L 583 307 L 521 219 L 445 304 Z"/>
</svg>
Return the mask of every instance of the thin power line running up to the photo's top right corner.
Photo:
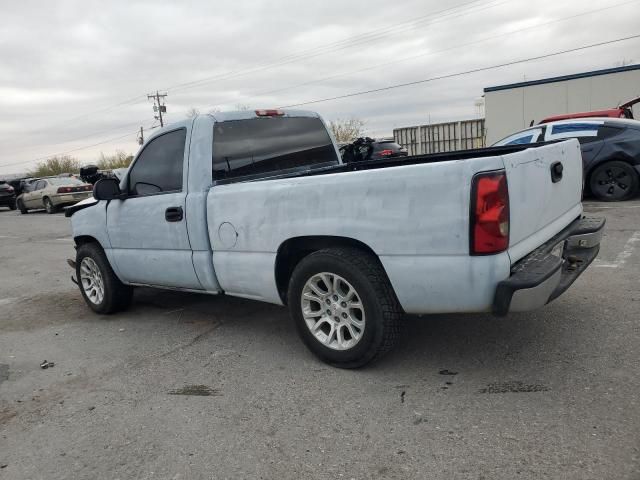
<svg viewBox="0 0 640 480">
<path fill-rule="evenodd" d="M 497 38 L 513 35 L 515 33 L 521 33 L 521 32 L 527 31 L 527 30 L 532 30 L 532 29 L 536 29 L 536 28 L 540 28 L 540 27 L 545 27 L 545 26 L 548 26 L 548 25 L 551 25 L 551 24 L 554 24 L 554 23 L 559 23 L 559 22 L 563 22 L 563 21 L 567 21 L 567 20 L 572 20 L 574 18 L 578 18 L 578 17 L 582 17 L 582 16 L 586 16 L 586 15 L 591 15 L 591 14 L 594 14 L 594 13 L 599 13 L 599 12 L 602 12 L 602 11 L 605 11 L 605 10 L 610 10 L 612 8 L 618 8 L 618 7 L 621 7 L 621 6 L 624 6 L 624 5 L 629 5 L 631 3 L 637 3 L 638 1 L 639 0 L 630 0 L 630 1 L 627 1 L 627 2 L 622 2 L 622 3 L 615 4 L 615 5 L 611 5 L 611 6 L 608 6 L 608 7 L 598 8 L 598 9 L 595 9 L 595 10 L 590 10 L 588 12 L 578 13 L 576 15 L 570 15 L 568 17 L 558 18 L 558 19 L 551 20 L 551 21 L 548 21 L 548 22 L 539 23 L 539 24 L 536 24 L 536 25 L 531 25 L 531 26 L 519 28 L 519 29 L 516 29 L 516 30 L 511 30 L 511 31 L 500 33 L 500 34 L 497 34 L 497 35 L 492 35 L 492 36 L 489 36 L 489 37 L 484 37 L 484 38 L 475 40 L 473 42 L 467 42 L 467 43 L 458 44 L 458 45 L 455 45 L 455 46 L 452 46 L 452 47 L 448 47 L 448 48 L 445 48 L 445 49 L 442 49 L 442 50 L 435 50 L 435 51 L 419 53 L 417 55 L 411 55 L 411 56 L 408 56 L 408 57 L 399 58 L 399 59 L 392 60 L 392 61 L 389 61 L 389 62 L 377 63 L 375 65 L 370 65 L 368 67 L 360 68 L 360 69 L 357 69 L 357 70 L 350 70 L 348 72 L 342 72 L 342 73 L 338 73 L 338 74 L 335 74 L 335 75 L 329 75 L 327 77 L 316 78 L 314 80 L 310 80 L 310 81 L 303 82 L 303 83 L 298 83 L 296 85 L 291 85 L 289 87 L 278 88 L 278 89 L 269 90 L 269 91 L 266 91 L 266 92 L 260 92 L 260 93 L 253 94 L 251 96 L 247 95 L 247 96 L 243 96 L 243 97 L 239 97 L 239 98 L 236 97 L 236 98 L 234 98 L 232 100 L 234 100 L 234 101 L 251 100 L 251 99 L 258 98 L 258 97 L 261 97 L 261 96 L 264 96 L 264 95 L 271 95 L 273 93 L 286 92 L 286 91 L 289 91 L 289 90 L 293 90 L 295 88 L 304 87 L 304 86 L 307 86 L 307 85 L 318 84 L 318 83 L 324 82 L 326 80 L 333 80 L 334 78 L 340 78 L 340 77 L 344 77 L 344 76 L 348 76 L 348 75 L 353 75 L 353 74 L 356 74 L 356 73 L 362 73 L 362 72 L 366 72 L 366 71 L 370 71 L 370 70 L 375 70 L 375 69 L 380 68 L 380 67 L 386 67 L 386 66 L 394 65 L 394 64 L 397 64 L 397 63 L 401 63 L 401 62 L 406 62 L 408 60 L 415 60 L 416 58 L 436 55 L 436 54 L 439 54 L 439 53 L 444 53 L 444 52 L 449 52 L 449 51 L 452 51 L 452 50 L 456 50 L 456 49 L 462 48 L 462 47 L 469 47 L 469 46 L 472 46 L 472 45 L 477 45 L 479 43 L 487 42 L 487 41 L 490 41 L 490 40 L 495 40 Z M 223 102 L 217 102 L 216 104 L 220 104 L 220 103 L 223 103 Z"/>
</svg>

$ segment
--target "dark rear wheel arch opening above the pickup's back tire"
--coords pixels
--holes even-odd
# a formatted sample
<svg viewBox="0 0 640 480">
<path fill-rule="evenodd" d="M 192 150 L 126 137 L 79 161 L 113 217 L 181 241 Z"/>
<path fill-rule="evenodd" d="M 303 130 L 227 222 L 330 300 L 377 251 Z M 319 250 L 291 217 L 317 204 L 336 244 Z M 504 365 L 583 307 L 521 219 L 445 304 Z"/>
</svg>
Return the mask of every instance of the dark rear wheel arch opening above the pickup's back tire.
<svg viewBox="0 0 640 480">
<path fill-rule="evenodd" d="M 293 237 L 282 242 L 276 254 L 275 279 L 278 294 L 284 305 L 287 304 L 287 290 L 289 280 L 296 265 L 306 256 L 318 250 L 327 248 L 355 248 L 369 255 L 372 255 L 382 266 L 378 255 L 364 242 L 350 237 L 330 236 L 330 235 L 310 235 Z M 382 266 L 384 270 L 384 266 Z M 385 271 L 386 274 L 386 271 Z"/>
</svg>

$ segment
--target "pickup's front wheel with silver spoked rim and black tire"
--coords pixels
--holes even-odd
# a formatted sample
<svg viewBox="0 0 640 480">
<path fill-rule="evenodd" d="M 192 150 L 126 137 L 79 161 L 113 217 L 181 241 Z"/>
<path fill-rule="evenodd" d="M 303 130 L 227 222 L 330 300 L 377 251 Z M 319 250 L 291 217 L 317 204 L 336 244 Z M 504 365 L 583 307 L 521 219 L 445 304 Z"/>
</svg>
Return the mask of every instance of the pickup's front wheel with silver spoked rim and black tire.
<svg viewBox="0 0 640 480">
<path fill-rule="evenodd" d="M 84 301 L 96 313 L 115 313 L 131 304 L 133 288 L 113 273 L 104 251 L 96 243 L 78 247 L 76 278 Z"/>
</svg>

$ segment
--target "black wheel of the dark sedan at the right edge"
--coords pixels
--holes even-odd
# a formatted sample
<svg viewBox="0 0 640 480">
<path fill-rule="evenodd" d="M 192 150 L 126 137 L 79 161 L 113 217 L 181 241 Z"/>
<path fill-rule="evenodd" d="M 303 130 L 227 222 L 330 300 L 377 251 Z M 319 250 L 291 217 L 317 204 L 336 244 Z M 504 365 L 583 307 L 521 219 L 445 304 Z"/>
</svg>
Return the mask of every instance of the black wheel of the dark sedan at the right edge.
<svg viewBox="0 0 640 480">
<path fill-rule="evenodd" d="M 591 193 L 603 202 L 619 202 L 634 197 L 639 183 L 635 169 L 619 160 L 598 165 L 589 176 Z"/>
</svg>

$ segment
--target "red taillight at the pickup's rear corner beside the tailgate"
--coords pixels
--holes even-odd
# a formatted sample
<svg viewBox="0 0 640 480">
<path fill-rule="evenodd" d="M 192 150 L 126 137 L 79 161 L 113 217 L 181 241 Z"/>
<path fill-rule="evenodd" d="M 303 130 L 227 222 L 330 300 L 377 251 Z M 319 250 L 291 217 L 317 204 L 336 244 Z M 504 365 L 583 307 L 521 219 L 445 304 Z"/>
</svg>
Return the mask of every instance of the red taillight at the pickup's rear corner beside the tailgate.
<svg viewBox="0 0 640 480">
<path fill-rule="evenodd" d="M 480 173 L 471 186 L 471 255 L 503 252 L 509 246 L 509 189 L 504 171 Z"/>
</svg>

